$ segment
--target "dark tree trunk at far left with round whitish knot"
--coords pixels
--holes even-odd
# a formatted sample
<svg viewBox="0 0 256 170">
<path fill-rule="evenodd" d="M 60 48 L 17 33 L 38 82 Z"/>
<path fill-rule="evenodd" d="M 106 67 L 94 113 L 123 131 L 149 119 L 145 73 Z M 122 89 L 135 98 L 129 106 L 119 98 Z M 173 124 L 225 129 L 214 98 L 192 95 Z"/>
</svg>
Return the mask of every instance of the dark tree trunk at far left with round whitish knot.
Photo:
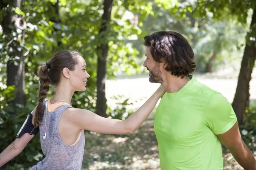
<svg viewBox="0 0 256 170">
<path fill-rule="evenodd" d="M 12 7 L 15 8 L 15 11 L 10 10 Z M 16 89 L 16 97 L 12 101 L 12 104 L 21 104 L 25 107 L 23 45 L 26 21 L 21 15 L 17 15 L 20 13 L 21 0 L 12 0 L 12 3 L 1 1 L 0 8 L 9 8 L 9 10 L 6 10 L 6 14 L 3 15 L 1 23 L 3 26 L 3 34 L 6 34 L 6 40 L 8 41 L 8 43 L 5 44 L 5 48 L 6 50 L 9 50 L 9 59 L 7 61 L 7 86 L 14 85 Z"/>
</svg>

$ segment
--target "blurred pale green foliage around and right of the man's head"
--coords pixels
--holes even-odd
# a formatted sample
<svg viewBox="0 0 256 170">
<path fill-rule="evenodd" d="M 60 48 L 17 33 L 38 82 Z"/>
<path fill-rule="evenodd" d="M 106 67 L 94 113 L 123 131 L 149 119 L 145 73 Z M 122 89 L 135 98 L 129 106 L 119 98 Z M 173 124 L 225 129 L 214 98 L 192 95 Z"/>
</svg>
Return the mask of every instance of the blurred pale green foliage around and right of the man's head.
<svg viewBox="0 0 256 170">
<path fill-rule="evenodd" d="M 189 1 L 172 1 L 172 8 L 168 5 L 161 5 L 157 1 L 151 1 L 153 11 L 157 11 L 154 15 L 148 16 L 143 21 L 141 27 L 143 33 L 140 39 L 131 40 L 129 42 L 137 46 L 140 57 L 145 54 L 145 48 L 142 45 L 143 37 L 157 31 L 177 31 L 189 41 L 195 53 L 197 60 L 196 71 L 204 72 L 213 54 L 216 58 L 212 61 L 212 71 L 221 68 L 231 67 L 235 70 L 239 69 L 245 43 L 245 35 L 248 31 L 248 23 L 238 23 L 232 18 L 221 20 L 216 19 L 210 11 L 204 11 L 204 15 L 198 14 L 196 6 L 197 1 L 190 4 Z M 176 11 L 176 12 L 175 12 Z M 179 12 L 177 12 L 179 11 Z M 252 12 L 248 12 L 250 20 Z M 144 59 L 144 57 L 143 57 Z M 142 63 L 144 60 L 140 59 Z"/>
</svg>

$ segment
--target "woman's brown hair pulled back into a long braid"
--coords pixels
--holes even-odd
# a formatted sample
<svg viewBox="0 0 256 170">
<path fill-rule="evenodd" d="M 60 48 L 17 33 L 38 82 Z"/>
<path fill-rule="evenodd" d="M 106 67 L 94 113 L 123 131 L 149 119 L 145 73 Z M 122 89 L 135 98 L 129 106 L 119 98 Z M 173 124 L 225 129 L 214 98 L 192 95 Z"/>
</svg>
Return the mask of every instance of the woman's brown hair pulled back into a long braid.
<svg viewBox="0 0 256 170">
<path fill-rule="evenodd" d="M 34 126 L 39 127 L 44 116 L 44 103 L 42 102 L 49 91 L 49 84 L 57 86 L 61 81 L 63 68 L 68 68 L 70 71 L 75 70 L 78 62 L 78 56 L 81 56 L 77 51 L 59 51 L 52 58 L 39 68 L 37 74 L 40 77 L 40 88 L 38 92 L 39 101 L 35 108 Z"/>
</svg>

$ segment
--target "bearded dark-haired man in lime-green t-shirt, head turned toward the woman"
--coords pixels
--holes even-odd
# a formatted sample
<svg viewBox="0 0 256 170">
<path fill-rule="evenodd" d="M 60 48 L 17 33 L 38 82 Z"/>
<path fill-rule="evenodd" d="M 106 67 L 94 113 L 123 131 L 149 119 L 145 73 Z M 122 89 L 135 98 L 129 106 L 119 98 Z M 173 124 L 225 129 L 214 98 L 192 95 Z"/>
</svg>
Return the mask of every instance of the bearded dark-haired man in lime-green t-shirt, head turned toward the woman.
<svg viewBox="0 0 256 170">
<path fill-rule="evenodd" d="M 192 76 L 196 64 L 187 40 L 173 31 L 144 40 L 149 81 L 166 88 L 154 121 L 161 170 L 222 170 L 221 142 L 245 170 L 256 170 L 230 103 Z"/>
</svg>

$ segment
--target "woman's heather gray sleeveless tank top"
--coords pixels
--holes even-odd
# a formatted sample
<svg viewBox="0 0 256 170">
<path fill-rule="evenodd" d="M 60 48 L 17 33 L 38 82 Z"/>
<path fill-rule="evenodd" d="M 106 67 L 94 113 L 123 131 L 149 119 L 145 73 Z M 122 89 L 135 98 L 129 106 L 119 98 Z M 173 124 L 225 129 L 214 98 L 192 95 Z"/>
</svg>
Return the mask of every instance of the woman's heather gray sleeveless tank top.
<svg viewBox="0 0 256 170">
<path fill-rule="evenodd" d="M 42 151 L 46 157 L 30 170 L 81 170 L 85 143 L 84 130 L 82 130 L 78 142 L 73 146 L 65 144 L 58 133 L 61 114 L 66 108 L 72 106 L 64 105 L 55 111 L 47 111 L 47 100 L 44 104 L 44 117 L 40 125 L 40 140 Z M 47 129 L 45 129 L 44 122 Z M 45 132 L 47 136 L 43 139 Z"/>
</svg>

